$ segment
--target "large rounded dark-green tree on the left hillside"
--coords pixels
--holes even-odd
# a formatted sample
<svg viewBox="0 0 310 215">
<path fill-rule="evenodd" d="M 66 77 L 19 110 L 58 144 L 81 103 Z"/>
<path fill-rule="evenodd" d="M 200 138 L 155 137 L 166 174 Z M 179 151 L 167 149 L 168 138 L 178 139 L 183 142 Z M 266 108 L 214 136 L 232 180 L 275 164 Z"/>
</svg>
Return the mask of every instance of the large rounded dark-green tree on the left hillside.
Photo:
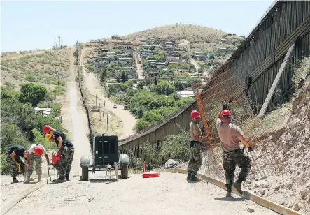
<svg viewBox="0 0 310 215">
<path fill-rule="evenodd" d="M 32 106 L 36 107 L 38 103 L 44 101 L 48 94 L 48 90 L 40 85 L 34 83 L 22 84 L 20 87 L 19 99 L 21 102 L 29 102 Z"/>
</svg>

